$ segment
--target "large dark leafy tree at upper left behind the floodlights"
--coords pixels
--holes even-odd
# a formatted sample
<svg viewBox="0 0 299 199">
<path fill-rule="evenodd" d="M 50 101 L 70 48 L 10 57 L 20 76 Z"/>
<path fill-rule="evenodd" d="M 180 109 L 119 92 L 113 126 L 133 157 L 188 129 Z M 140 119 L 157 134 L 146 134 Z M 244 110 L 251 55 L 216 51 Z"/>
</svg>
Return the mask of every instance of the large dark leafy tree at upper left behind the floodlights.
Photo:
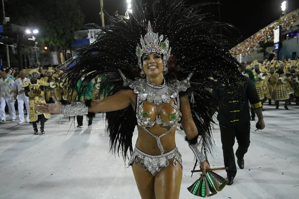
<svg viewBox="0 0 299 199">
<path fill-rule="evenodd" d="M 48 49 L 63 52 L 74 42 L 74 31 L 84 22 L 77 0 L 9 0 L 5 14 L 10 22 L 39 30 L 37 42 Z M 28 49 L 26 50 L 28 51 Z M 58 59 L 60 60 L 60 59 Z"/>
</svg>

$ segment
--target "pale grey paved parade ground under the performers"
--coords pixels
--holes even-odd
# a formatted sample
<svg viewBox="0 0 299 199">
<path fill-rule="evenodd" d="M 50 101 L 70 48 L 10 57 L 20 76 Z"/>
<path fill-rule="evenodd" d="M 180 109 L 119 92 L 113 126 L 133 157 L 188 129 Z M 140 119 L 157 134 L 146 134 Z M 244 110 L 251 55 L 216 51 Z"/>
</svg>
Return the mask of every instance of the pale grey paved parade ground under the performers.
<svg viewBox="0 0 299 199">
<path fill-rule="evenodd" d="M 265 106 L 267 127 L 255 132 L 252 122 L 245 169 L 238 170 L 234 185 L 214 199 L 298 199 L 299 106 L 290 108 Z M 8 120 L 0 123 L 0 199 L 140 199 L 131 168 L 109 153 L 102 115 L 97 115 L 92 128 L 84 121 L 82 129 L 52 115 L 44 135 L 33 135 L 27 123 Z M 190 178 L 193 156 L 183 137 L 178 130 L 184 167 L 180 199 L 196 199 L 186 189 L 196 175 Z M 210 163 L 222 167 L 218 126 L 214 138 Z M 226 176 L 225 171 L 217 173 Z"/>
</svg>

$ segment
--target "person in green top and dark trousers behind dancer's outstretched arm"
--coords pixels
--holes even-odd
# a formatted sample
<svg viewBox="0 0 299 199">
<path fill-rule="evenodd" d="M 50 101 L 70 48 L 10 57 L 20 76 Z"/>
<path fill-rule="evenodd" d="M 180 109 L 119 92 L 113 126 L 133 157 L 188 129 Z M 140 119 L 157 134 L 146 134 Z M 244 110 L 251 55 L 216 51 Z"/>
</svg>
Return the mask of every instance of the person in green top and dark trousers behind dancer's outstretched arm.
<svg viewBox="0 0 299 199">
<path fill-rule="evenodd" d="M 81 79 L 77 82 L 77 85 L 75 87 L 75 92 L 80 94 L 80 98 L 76 101 L 84 101 L 84 100 L 89 100 L 92 99 L 92 89 L 93 89 L 93 83 L 92 81 L 89 82 L 89 84 L 85 87 L 83 91 L 81 91 L 81 85 L 82 82 L 84 81 L 86 75 L 82 75 Z M 88 116 L 88 126 L 92 125 L 92 116 Z M 77 115 L 77 127 L 82 128 L 83 127 L 83 115 Z"/>
</svg>

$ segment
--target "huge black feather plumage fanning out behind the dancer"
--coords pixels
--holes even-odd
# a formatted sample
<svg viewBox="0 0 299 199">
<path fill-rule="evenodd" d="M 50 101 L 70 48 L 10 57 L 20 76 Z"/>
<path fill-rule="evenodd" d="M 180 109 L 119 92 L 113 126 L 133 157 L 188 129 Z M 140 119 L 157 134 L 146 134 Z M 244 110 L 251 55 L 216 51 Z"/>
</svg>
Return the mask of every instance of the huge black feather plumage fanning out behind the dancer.
<svg viewBox="0 0 299 199">
<path fill-rule="evenodd" d="M 148 21 L 153 32 L 168 38 L 171 55 L 176 68 L 177 80 L 182 81 L 190 72 L 191 88 L 183 95 L 190 95 L 193 119 L 202 135 L 206 149 L 212 144 L 211 114 L 217 109 L 218 101 L 209 89 L 214 80 L 218 83 L 236 86 L 241 74 L 237 60 L 225 48 L 225 41 L 218 35 L 219 27 L 230 29 L 229 24 L 212 20 L 212 15 L 203 12 L 211 3 L 184 5 L 185 0 L 152 0 L 149 4 L 137 1 L 137 14 L 129 13 L 129 18 L 107 15 L 110 24 L 101 28 L 99 38 L 90 46 L 81 48 L 69 69 L 68 77 L 74 87 L 83 74 L 89 73 L 82 87 L 92 79 L 106 75 L 103 88 L 111 88 L 108 96 L 123 89 L 120 69 L 128 79 L 140 77 L 136 46 L 141 35 L 146 34 Z M 170 80 L 168 80 L 170 81 Z M 111 150 L 122 152 L 124 159 L 132 152 L 132 136 L 137 124 L 133 107 L 106 113 L 107 128 L 111 140 Z"/>
</svg>

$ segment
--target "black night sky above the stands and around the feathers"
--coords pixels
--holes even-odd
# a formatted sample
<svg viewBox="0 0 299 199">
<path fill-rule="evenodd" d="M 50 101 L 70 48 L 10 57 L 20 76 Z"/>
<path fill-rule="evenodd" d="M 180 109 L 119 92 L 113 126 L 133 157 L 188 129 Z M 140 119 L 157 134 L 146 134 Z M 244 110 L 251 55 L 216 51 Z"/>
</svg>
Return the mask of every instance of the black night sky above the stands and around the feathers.
<svg viewBox="0 0 299 199">
<path fill-rule="evenodd" d="M 217 2 L 218 0 L 187 0 L 194 2 Z M 282 15 L 281 3 L 284 0 L 219 0 L 221 5 L 221 21 L 232 23 L 239 28 L 242 40 L 250 37 Z M 134 3 L 134 0 L 132 0 Z M 85 14 L 85 23 L 101 24 L 100 0 L 79 0 Z M 104 8 L 109 14 L 116 10 L 121 15 L 126 11 L 126 0 L 104 0 Z M 288 0 L 288 12 L 299 8 L 299 0 Z M 219 19 L 217 6 L 211 12 Z"/>
</svg>

